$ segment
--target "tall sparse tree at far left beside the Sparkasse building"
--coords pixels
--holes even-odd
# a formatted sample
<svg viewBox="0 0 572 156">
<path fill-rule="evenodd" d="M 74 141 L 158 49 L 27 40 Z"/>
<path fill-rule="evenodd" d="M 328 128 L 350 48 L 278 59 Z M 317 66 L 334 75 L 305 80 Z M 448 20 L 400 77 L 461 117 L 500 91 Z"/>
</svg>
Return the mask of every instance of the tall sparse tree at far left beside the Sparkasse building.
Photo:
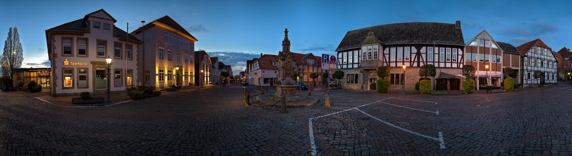
<svg viewBox="0 0 572 156">
<path fill-rule="evenodd" d="M 12 87 L 14 82 L 14 69 L 22 66 L 23 50 L 22 43 L 20 43 L 20 34 L 18 34 L 18 28 L 14 27 L 14 31 L 10 27 L 8 31 L 8 37 L 4 42 L 4 51 L 0 55 L 0 66 L 2 66 L 3 77 L 6 78 L 6 86 Z"/>
</svg>

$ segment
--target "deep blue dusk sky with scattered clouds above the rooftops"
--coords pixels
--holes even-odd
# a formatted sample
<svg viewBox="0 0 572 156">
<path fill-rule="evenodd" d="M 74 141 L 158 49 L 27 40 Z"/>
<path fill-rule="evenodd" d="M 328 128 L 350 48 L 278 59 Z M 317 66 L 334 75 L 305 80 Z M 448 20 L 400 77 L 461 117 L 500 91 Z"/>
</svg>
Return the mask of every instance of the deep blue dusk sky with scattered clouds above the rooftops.
<svg viewBox="0 0 572 156">
<path fill-rule="evenodd" d="M 288 28 L 291 51 L 335 54 L 350 30 L 403 22 L 461 21 L 464 42 L 487 30 L 498 42 L 519 46 L 540 38 L 554 51 L 572 47 L 572 1 L 5 1 L 0 0 L 0 39 L 18 27 L 22 67 L 49 67 L 45 30 L 104 9 L 129 31 L 165 15 L 231 65 L 276 55 Z"/>
</svg>

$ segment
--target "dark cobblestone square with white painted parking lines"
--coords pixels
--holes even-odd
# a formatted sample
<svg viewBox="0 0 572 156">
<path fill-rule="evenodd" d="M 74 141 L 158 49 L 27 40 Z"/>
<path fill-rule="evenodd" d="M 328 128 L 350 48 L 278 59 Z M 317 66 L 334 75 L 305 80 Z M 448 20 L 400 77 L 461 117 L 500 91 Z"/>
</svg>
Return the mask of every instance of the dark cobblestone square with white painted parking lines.
<svg viewBox="0 0 572 156">
<path fill-rule="evenodd" d="M 331 107 L 319 89 L 319 104 L 289 113 L 244 106 L 243 87 L 252 97 L 260 87 L 240 83 L 108 107 L 0 93 L 0 155 L 569 155 L 568 86 L 452 96 L 332 90 Z"/>
</svg>

